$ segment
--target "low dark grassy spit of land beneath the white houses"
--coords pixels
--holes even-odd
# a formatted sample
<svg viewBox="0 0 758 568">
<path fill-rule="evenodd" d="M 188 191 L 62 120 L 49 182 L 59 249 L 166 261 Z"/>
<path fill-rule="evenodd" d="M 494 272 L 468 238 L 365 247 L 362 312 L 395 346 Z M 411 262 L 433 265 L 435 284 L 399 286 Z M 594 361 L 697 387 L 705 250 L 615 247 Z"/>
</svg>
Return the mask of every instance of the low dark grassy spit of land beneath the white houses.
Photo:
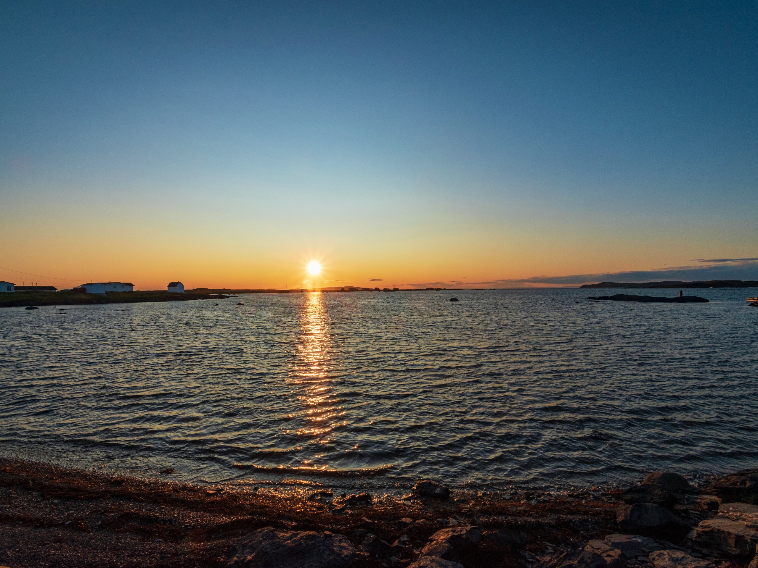
<svg viewBox="0 0 758 568">
<path fill-rule="evenodd" d="M 0 307 L 19 306 L 67 306 L 86 304 L 130 304 L 146 301 L 188 301 L 223 300 L 228 295 L 208 292 L 186 292 L 174 294 L 165 290 L 143 292 L 105 292 L 105 294 L 85 294 L 83 292 L 10 292 L 0 294 Z"/>
</svg>

